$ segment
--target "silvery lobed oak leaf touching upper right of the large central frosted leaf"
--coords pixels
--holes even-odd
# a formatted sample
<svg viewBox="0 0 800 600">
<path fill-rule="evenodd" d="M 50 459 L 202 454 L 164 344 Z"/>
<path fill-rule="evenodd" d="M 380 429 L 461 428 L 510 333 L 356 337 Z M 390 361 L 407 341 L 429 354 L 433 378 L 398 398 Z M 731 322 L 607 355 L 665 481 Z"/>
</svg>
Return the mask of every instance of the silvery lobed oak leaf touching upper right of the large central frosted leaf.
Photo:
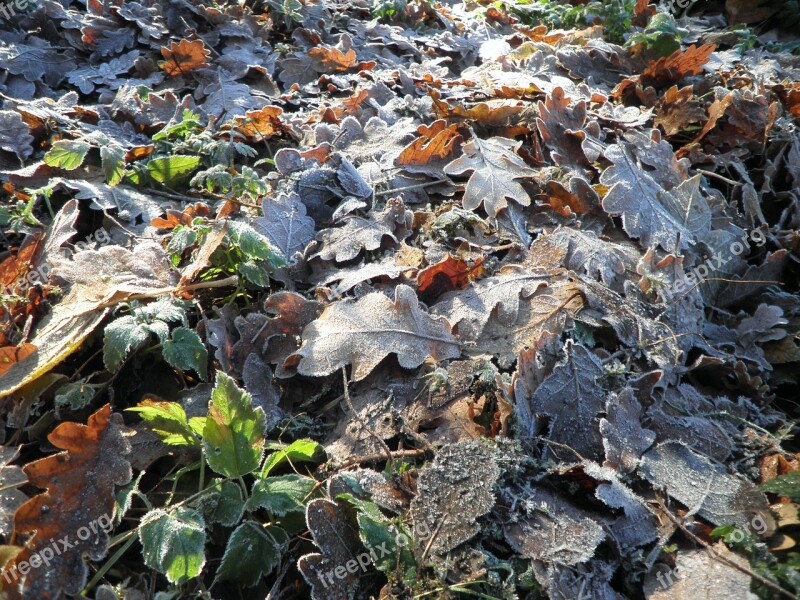
<svg viewBox="0 0 800 600">
<path fill-rule="evenodd" d="M 482 279 L 467 289 L 442 295 L 431 312 L 447 317 L 462 339 L 475 340 L 495 309 L 501 324 L 514 323 L 519 314 L 520 297 L 529 298 L 546 286 L 547 281 L 545 272 L 507 265 L 493 277 Z"/>
</svg>

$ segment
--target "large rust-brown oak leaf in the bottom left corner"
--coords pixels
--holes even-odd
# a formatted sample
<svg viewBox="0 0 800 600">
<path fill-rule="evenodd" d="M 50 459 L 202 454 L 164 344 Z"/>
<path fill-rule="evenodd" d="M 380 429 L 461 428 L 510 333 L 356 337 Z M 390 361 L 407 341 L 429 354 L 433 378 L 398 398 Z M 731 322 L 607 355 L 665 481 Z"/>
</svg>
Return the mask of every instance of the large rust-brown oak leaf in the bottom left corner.
<svg viewBox="0 0 800 600">
<path fill-rule="evenodd" d="M 130 445 L 110 404 L 89 417 L 88 425 L 62 423 L 47 439 L 64 452 L 24 468 L 30 483 L 47 491 L 14 515 L 15 537 L 33 535 L 3 568 L 0 586 L 7 600 L 79 594 L 86 585 L 84 555 L 100 560 L 108 551 L 115 486 L 131 479 L 124 458 Z"/>
</svg>

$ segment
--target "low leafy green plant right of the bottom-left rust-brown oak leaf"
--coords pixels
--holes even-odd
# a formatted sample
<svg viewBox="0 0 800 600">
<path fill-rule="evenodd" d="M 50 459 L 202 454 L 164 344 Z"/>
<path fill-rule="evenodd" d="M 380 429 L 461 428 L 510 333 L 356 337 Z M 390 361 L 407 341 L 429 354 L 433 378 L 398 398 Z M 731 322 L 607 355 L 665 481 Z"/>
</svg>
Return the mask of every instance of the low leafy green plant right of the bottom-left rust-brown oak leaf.
<svg viewBox="0 0 800 600">
<path fill-rule="evenodd" d="M 250 394 L 222 373 L 217 374 L 205 417 L 187 419 L 175 402 L 144 401 L 128 410 L 139 413 L 165 444 L 200 452 L 198 462 L 174 478 L 173 492 L 179 478 L 199 473 L 198 491 L 186 499 L 173 503 L 170 494 L 163 506 L 154 507 L 135 486 L 126 491 L 127 497 L 143 498 L 148 507 L 130 534 L 140 540 L 145 564 L 180 587 L 207 567 L 209 533 L 213 530 L 219 538 L 221 530 L 225 552 L 215 583 L 256 585 L 278 565 L 290 537 L 302 531 L 305 506 L 319 488 L 311 477 L 273 471 L 289 461 L 322 462 L 322 447 L 311 440 L 267 444 L 263 410 L 254 408 Z M 206 466 L 216 475 L 208 483 Z"/>
</svg>

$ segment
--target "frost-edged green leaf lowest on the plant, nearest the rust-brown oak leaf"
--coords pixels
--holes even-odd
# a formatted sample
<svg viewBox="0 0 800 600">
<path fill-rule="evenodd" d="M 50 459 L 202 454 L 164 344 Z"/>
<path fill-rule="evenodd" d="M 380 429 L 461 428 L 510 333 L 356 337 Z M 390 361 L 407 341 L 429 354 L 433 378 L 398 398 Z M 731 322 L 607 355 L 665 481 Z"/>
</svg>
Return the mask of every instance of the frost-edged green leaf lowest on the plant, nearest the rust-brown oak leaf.
<svg viewBox="0 0 800 600">
<path fill-rule="evenodd" d="M 151 510 L 142 519 L 139 539 L 144 564 L 164 574 L 170 583 L 183 583 L 203 570 L 205 523 L 194 510 Z"/>
</svg>

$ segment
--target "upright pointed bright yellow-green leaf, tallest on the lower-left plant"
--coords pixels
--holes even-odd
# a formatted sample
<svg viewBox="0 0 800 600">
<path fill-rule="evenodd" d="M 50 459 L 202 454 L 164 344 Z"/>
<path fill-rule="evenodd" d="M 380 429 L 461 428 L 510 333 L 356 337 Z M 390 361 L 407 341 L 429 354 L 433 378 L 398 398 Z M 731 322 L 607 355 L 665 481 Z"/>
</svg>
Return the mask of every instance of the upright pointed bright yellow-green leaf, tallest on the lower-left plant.
<svg viewBox="0 0 800 600">
<path fill-rule="evenodd" d="M 253 408 L 247 392 L 224 373 L 217 373 L 203 445 L 208 466 L 226 477 L 241 477 L 258 468 L 264 449 L 264 411 Z"/>
</svg>

